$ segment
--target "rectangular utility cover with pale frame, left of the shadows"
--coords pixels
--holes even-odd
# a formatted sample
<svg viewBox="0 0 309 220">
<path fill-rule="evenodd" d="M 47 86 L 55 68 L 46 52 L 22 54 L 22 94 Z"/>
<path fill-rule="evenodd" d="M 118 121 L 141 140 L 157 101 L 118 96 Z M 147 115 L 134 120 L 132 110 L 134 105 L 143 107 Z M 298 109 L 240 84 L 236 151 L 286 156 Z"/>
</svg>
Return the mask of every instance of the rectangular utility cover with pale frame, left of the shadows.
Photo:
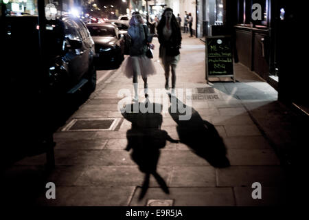
<svg viewBox="0 0 309 220">
<path fill-rule="evenodd" d="M 114 131 L 120 118 L 75 118 L 62 131 Z"/>
</svg>

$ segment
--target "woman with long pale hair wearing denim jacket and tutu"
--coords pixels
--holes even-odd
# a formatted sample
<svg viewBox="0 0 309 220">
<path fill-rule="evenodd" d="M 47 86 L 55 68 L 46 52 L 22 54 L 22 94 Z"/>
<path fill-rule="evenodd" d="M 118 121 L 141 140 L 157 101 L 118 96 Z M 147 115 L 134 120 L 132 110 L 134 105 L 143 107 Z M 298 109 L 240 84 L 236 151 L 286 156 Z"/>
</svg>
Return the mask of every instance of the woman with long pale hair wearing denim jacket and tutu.
<svg viewBox="0 0 309 220">
<path fill-rule="evenodd" d="M 137 77 L 141 76 L 144 80 L 144 94 L 148 96 L 148 75 L 156 74 L 155 66 L 153 65 L 150 58 L 146 56 L 148 45 L 153 49 L 154 46 L 150 44 L 152 35 L 149 33 L 149 29 L 144 24 L 144 19 L 141 17 L 139 12 L 133 12 L 132 18 L 130 19 L 130 28 L 128 28 L 128 41 L 130 44 L 130 56 L 124 61 L 123 72 L 128 78 L 133 78 L 134 88 L 134 102 L 138 102 L 138 81 Z"/>
</svg>

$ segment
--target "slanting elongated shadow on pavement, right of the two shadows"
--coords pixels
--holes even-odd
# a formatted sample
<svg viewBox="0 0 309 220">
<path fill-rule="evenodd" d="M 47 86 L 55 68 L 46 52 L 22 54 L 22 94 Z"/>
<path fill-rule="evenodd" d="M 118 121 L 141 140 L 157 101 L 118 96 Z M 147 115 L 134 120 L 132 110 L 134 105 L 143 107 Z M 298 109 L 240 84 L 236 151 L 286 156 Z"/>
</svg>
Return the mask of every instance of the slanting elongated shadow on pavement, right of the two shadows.
<svg viewBox="0 0 309 220">
<path fill-rule="evenodd" d="M 178 98 L 172 97 L 170 100 L 171 106 L 168 111 L 177 123 L 176 130 L 180 142 L 189 146 L 196 155 L 206 159 L 211 166 L 218 168 L 230 166 L 225 144 L 214 125 L 203 120 L 194 108 L 187 106 Z M 186 111 L 191 108 L 192 114 L 189 120 L 179 119 L 180 115 L 186 114 L 179 111 L 179 105 Z"/>
</svg>

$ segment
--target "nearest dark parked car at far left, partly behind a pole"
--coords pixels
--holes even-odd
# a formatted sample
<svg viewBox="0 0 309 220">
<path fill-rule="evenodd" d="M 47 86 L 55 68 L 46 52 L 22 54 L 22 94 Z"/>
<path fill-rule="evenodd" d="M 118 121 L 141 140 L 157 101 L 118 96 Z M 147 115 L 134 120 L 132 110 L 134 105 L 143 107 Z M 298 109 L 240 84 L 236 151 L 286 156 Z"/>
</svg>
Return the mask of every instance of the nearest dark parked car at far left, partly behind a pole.
<svg viewBox="0 0 309 220">
<path fill-rule="evenodd" d="M 3 44 L 10 45 L 7 59 L 12 63 L 14 72 L 20 74 L 20 70 L 40 71 L 38 17 L 6 17 L 5 20 L 8 34 Z M 51 87 L 63 92 L 73 92 L 82 81 L 92 91 L 95 89 L 94 42 L 80 19 L 62 17 L 47 21 L 44 42 Z M 13 63 L 23 65 L 20 67 Z M 21 78 L 14 79 L 18 81 Z"/>
</svg>

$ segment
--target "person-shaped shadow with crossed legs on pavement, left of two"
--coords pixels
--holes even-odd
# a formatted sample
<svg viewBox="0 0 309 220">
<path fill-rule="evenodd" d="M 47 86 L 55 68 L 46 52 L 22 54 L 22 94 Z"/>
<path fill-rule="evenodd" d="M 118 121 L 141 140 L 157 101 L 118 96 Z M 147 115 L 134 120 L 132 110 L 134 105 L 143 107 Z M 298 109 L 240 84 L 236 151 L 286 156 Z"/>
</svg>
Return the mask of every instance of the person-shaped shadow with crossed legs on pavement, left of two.
<svg viewBox="0 0 309 220">
<path fill-rule="evenodd" d="M 141 105 L 145 103 L 127 104 L 122 113 L 124 118 L 132 123 L 131 129 L 126 132 L 128 145 L 126 151 L 131 151 L 130 156 L 139 166 L 139 170 L 145 173 L 144 183 L 141 188 L 139 199 L 142 199 L 148 190 L 150 175 L 153 175 L 159 186 L 165 193 L 169 193 L 168 186 L 164 179 L 157 173 L 157 164 L 160 157 L 160 149 L 165 147 L 166 140 L 173 140 L 166 131 L 161 130 L 162 115 L 161 110 L 155 113 L 155 109 L 162 109 L 161 104 L 146 102 L 148 107 L 153 104 L 151 112 L 142 113 L 139 111 Z M 137 111 L 135 111 L 137 108 Z M 146 107 L 147 108 L 147 107 Z M 158 111 L 156 111 L 158 112 Z"/>
</svg>

